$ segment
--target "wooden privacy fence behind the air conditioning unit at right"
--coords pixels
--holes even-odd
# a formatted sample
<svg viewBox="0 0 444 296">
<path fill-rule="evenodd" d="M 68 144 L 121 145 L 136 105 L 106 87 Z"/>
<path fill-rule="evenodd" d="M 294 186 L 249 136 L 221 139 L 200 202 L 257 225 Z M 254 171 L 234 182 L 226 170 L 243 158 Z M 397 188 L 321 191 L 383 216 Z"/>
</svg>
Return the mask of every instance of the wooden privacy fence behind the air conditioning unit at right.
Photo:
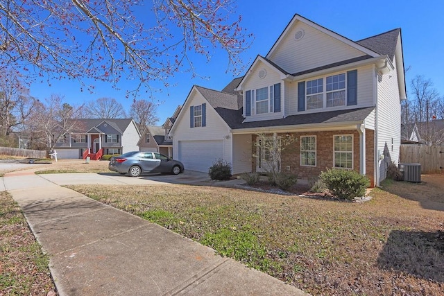
<svg viewBox="0 0 444 296">
<path fill-rule="evenodd" d="M 421 164 L 421 173 L 441 173 L 444 146 L 401 145 L 400 162 Z"/>
</svg>

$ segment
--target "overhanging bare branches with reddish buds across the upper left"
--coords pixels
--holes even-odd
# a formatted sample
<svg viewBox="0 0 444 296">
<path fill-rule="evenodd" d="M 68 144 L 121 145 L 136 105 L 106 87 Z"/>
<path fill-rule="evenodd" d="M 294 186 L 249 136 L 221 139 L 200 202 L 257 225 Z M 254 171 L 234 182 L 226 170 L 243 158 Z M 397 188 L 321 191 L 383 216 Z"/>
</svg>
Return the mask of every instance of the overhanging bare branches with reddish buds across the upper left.
<svg viewBox="0 0 444 296">
<path fill-rule="evenodd" d="M 184 67 L 193 71 L 189 53 L 210 59 L 216 48 L 236 71 L 251 35 L 241 28 L 234 1 L 0 1 L 0 73 L 8 68 L 28 78 L 82 83 L 87 77 L 114 85 L 125 73 L 149 87 Z M 135 11 L 155 25 L 146 26 Z"/>
</svg>

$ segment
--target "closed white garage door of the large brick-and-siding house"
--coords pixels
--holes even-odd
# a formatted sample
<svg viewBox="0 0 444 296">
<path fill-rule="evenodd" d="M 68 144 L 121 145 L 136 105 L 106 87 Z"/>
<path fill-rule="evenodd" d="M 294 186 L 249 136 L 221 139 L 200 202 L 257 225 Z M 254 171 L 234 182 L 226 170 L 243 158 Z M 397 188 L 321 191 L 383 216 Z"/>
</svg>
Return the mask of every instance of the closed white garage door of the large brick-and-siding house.
<svg viewBox="0 0 444 296">
<path fill-rule="evenodd" d="M 223 158 L 223 141 L 179 141 L 178 160 L 185 170 L 208 173 L 208 168 Z"/>
</svg>

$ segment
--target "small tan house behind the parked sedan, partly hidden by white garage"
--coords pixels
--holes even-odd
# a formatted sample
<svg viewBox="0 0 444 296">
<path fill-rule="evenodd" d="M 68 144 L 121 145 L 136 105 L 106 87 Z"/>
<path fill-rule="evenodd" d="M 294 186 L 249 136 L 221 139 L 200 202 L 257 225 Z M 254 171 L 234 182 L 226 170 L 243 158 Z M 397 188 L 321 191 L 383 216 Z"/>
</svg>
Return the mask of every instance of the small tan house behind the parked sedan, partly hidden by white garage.
<svg viewBox="0 0 444 296">
<path fill-rule="evenodd" d="M 140 151 L 151 151 L 162 153 L 169 157 L 173 157 L 173 139 L 169 135 L 169 130 L 176 120 L 181 106 L 176 108 L 173 116 L 167 118 L 162 126 L 147 126 L 142 132 L 137 142 Z"/>
</svg>

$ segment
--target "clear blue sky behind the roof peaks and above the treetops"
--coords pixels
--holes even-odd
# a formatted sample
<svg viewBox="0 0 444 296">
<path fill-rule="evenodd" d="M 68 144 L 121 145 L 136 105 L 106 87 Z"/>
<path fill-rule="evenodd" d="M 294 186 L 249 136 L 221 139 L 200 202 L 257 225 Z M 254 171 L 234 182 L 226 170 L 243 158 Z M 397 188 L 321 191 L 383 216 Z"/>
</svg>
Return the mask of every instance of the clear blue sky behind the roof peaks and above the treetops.
<svg viewBox="0 0 444 296">
<path fill-rule="evenodd" d="M 147 8 L 148 9 L 148 8 Z M 238 0 L 237 12 L 243 17 L 243 26 L 255 35 L 253 44 L 241 58 L 246 67 L 254 58 L 266 55 L 280 33 L 284 31 L 295 13 L 324 26 L 350 40 L 361 40 L 366 37 L 402 28 L 402 45 L 404 49 L 404 66 L 410 67 L 406 75 L 407 91 L 410 80 L 416 75 L 423 75 L 434 82 L 434 87 L 444 96 L 444 1 L 264 1 Z M 158 103 L 157 116 L 161 125 L 171 116 L 178 105 L 181 105 L 193 85 L 200 85 L 221 90 L 235 78 L 233 73 L 225 73 L 227 68 L 226 54 L 215 50 L 212 60 L 205 62 L 195 57 L 196 72 L 208 79 L 191 78 L 190 73 L 178 73 L 171 77 L 168 89 L 160 87 L 161 92 L 154 94 L 153 100 Z M 94 82 L 88 82 L 94 83 Z M 78 82 L 70 80 L 53 80 L 51 86 L 44 84 L 31 85 L 31 95 L 49 98 L 51 94 L 65 96 L 71 104 L 94 101 L 104 96 L 115 98 L 128 111 L 131 98 L 126 98 L 126 89 L 134 89 L 135 82 L 121 81 L 117 91 L 112 85 L 96 82 L 95 93 L 80 92 Z M 141 98 L 148 98 L 142 93 Z"/>
</svg>

